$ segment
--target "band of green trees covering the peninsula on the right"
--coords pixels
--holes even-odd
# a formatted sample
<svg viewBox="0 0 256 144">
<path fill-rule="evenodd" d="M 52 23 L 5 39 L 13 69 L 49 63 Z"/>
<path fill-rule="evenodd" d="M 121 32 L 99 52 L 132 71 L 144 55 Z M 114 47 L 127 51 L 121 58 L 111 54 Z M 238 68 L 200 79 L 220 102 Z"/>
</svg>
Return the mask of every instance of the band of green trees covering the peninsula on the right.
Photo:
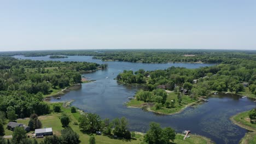
<svg viewBox="0 0 256 144">
<path fill-rule="evenodd" d="M 212 67 L 186 69 L 170 67 L 165 70 L 124 70 L 117 80 L 125 83 L 144 83 L 149 91 L 156 88 L 174 90 L 189 89 L 192 96 L 207 95 L 211 91 L 241 92 L 242 82 L 248 82 L 249 89 L 256 93 L 256 63 L 254 61 L 227 61 Z M 195 81 L 193 81 L 195 80 Z M 196 83 L 195 85 L 193 85 Z M 177 90 L 179 91 L 179 90 Z"/>
</svg>

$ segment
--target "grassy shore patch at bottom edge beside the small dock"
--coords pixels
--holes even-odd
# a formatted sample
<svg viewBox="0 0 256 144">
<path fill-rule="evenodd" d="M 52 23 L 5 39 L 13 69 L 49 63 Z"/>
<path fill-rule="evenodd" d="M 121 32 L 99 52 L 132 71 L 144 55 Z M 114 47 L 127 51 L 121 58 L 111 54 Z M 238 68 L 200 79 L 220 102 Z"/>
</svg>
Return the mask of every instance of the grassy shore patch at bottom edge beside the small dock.
<svg viewBox="0 0 256 144">
<path fill-rule="evenodd" d="M 190 134 L 189 134 L 190 135 Z M 176 139 L 174 140 L 174 143 L 177 144 L 210 144 L 210 143 L 214 143 L 212 142 L 210 139 L 200 136 L 200 135 L 190 135 L 189 138 L 183 140 L 184 135 L 182 134 L 177 134 L 176 135 Z"/>
</svg>

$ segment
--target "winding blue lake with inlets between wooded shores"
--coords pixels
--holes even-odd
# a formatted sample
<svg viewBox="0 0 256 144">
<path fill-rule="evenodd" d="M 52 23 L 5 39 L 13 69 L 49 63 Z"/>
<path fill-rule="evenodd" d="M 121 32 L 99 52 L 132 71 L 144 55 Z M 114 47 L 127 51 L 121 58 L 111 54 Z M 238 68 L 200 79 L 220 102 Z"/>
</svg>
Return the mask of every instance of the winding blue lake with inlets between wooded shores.
<svg viewBox="0 0 256 144">
<path fill-rule="evenodd" d="M 75 100 L 72 103 L 73 106 L 85 112 L 97 113 L 101 118 L 126 117 L 129 121 L 129 129 L 132 131 L 146 132 L 150 122 L 157 122 L 162 127 L 170 126 L 179 133 L 183 130 L 190 130 L 191 134 L 209 137 L 216 143 L 238 143 L 247 133 L 247 130 L 232 124 L 229 118 L 238 112 L 255 107 L 253 100 L 248 98 L 241 99 L 236 95 L 215 95 L 209 98 L 207 103 L 190 106 L 176 115 L 156 115 L 153 112 L 141 109 L 127 108 L 125 106 L 125 103 L 129 101 L 127 98 L 133 97 L 139 89 L 137 87 L 119 85 L 114 80 L 123 70 L 156 70 L 172 66 L 194 69 L 214 64 L 102 62 L 100 59 L 92 59 L 91 56 L 68 56 L 68 58 L 60 59 L 50 59 L 49 56 L 14 57 L 44 61 L 107 63 L 109 67 L 107 70 L 97 70 L 94 73 L 83 74 L 83 76 L 89 77 L 89 80 L 96 81 L 83 83 L 81 89 L 63 95 L 61 101 Z"/>
</svg>

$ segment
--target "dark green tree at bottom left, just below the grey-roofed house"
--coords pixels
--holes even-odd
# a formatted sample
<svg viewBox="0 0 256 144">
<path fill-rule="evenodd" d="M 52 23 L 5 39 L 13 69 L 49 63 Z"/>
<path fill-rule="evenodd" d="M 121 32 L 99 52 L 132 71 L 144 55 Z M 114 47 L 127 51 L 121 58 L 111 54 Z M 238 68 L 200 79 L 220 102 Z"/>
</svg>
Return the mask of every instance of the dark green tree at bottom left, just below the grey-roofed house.
<svg viewBox="0 0 256 144">
<path fill-rule="evenodd" d="M 13 131 L 13 139 L 11 139 L 11 142 L 14 144 L 18 144 L 21 142 L 22 139 L 26 139 L 26 131 L 23 127 L 16 127 Z"/>
</svg>

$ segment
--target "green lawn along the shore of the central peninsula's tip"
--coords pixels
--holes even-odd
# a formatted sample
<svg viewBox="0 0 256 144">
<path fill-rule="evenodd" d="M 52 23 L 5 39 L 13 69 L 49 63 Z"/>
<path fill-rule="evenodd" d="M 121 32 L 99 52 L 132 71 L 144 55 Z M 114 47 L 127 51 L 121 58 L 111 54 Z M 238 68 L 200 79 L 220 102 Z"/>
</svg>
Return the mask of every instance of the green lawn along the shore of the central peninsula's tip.
<svg viewBox="0 0 256 144">
<path fill-rule="evenodd" d="M 187 107 L 189 104 L 193 104 L 193 103 L 196 102 L 196 100 L 191 99 L 188 95 L 183 94 L 182 95 L 182 103 L 178 104 L 177 95 L 178 94 L 176 94 L 174 92 L 170 92 L 167 95 L 167 100 L 166 101 L 170 101 L 170 103 L 171 103 L 171 100 L 174 100 L 175 101 L 174 106 L 168 107 L 168 108 L 167 107 L 162 107 L 159 110 L 156 110 L 155 106 L 151 106 L 151 107 L 148 107 L 148 110 L 149 111 L 154 111 L 154 112 L 170 114 L 170 113 L 179 112 L 182 109 L 184 109 L 185 107 Z M 144 101 L 133 99 L 133 100 L 130 100 L 126 105 L 130 106 L 130 107 L 142 107 L 144 104 L 146 104 L 146 103 L 144 103 Z"/>
</svg>

